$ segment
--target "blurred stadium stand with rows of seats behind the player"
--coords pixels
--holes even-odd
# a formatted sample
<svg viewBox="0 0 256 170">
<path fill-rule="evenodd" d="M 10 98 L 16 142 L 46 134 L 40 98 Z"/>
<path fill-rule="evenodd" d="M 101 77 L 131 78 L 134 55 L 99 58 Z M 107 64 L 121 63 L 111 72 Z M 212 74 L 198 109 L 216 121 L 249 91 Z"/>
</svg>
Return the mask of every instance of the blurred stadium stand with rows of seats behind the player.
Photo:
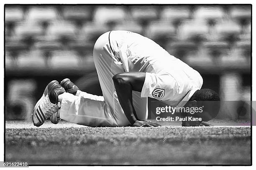
<svg viewBox="0 0 256 170">
<path fill-rule="evenodd" d="M 5 5 L 6 120 L 31 121 L 51 80 L 102 95 L 92 51 L 109 30 L 151 38 L 237 101 L 218 119 L 251 118 L 251 5 Z"/>
</svg>

